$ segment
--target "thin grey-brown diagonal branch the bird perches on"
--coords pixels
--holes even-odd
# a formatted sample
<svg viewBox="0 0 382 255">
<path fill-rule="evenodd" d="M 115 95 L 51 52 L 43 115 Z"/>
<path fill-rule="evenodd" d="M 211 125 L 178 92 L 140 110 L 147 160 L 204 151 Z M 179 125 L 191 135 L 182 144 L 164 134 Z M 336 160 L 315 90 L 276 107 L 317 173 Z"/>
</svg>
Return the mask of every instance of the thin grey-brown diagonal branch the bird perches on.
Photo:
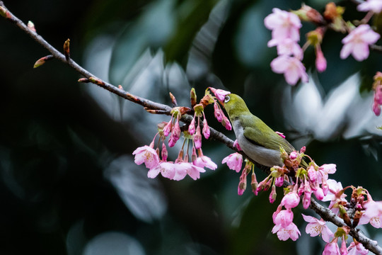
<svg viewBox="0 0 382 255">
<path fill-rule="evenodd" d="M 122 86 L 117 87 L 117 86 L 114 86 L 112 84 L 109 84 L 108 82 L 99 79 L 94 74 L 91 74 L 91 72 L 88 72 L 88 70 L 81 67 L 79 64 L 77 64 L 74 60 L 72 60 L 69 57 L 69 52 L 66 52 L 66 54 L 59 52 L 59 50 L 57 50 L 55 47 L 50 45 L 49 42 L 47 42 L 44 38 L 42 38 L 41 35 L 38 35 L 34 30 L 28 28 L 28 26 L 25 25 L 25 23 L 23 23 L 23 21 L 21 21 L 19 18 L 14 16 L 13 13 L 8 11 L 6 6 L 4 6 L 3 1 L 0 1 L 0 14 L 1 14 L 1 16 L 4 16 L 4 18 L 6 18 L 6 20 L 8 20 L 11 23 L 15 24 L 16 26 L 18 26 L 18 28 L 23 30 L 26 34 L 28 34 L 31 38 L 33 38 L 33 40 L 35 40 L 37 43 L 42 45 L 42 47 L 45 47 L 45 49 L 47 49 L 50 52 L 51 55 L 48 55 L 47 57 L 45 57 L 45 60 L 49 60 L 51 58 L 55 58 L 57 60 L 60 60 L 60 61 L 64 62 L 65 64 L 68 64 L 69 67 L 73 68 L 74 70 L 76 70 L 76 72 L 78 72 L 83 77 L 85 77 L 85 78 L 79 79 L 80 82 L 91 82 L 93 84 L 96 84 L 96 85 L 102 87 L 103 89 L 110 91 L 112 94 L 115 94 L 115 95 L 120 96 L 122 98 L 125 98 L 129 101 L 132 101 L 133 103 L 137 103 L 141 106 L 144 106 L 145 110 L 148 112 L 171 115 L 171 110 L 173 108 L 171 108 L 170 106 L 167 106 L 167 105 L 162 104 L 162 103 L 156 103 L 154 101 L 150 101 L 146 98 L 141 98 L 141 97 L 135 96 L 133 94 L 129 94 L 129 92 L 122 89 Z M 66 50 L 69 50 L 69 40 L 67 40 L 66 43 L 68 44 L 68 45 L 66 45 Z M 380 46 L 372 45 L 371 49 L 382 52 L 382 47 L 380 47 Z M 192 120 L 192 116 L 185 114 L 182 116 L 181 120 L 184 123 L 190 123 Z M 226 135 L 215 130 L 214 128 L 210 128 L 210 130 L 211 130 L 211 135 L 210 135 L 209 139 L 222 142 L 227 147 L 238 152 L 238 150 L 233 146 L 233 141 L 231 139 L 229 139 L 228 137 L 226 137 Z M 250 157 L 248 157 L 243 152 L 240 152 L 240 153 L 243 154 L 244 157 L 247 157 L 248 159 L 250 159 Z M 268 167 L 257 164 L 257 162 L 254 162 L 254 161 L 252 161 L 252 162 L 257 167 L 259 167 L 260 169 L 262 169 L 262 170 L 267 169 L 269 172 Z M 288 185 L 288 183 L 286 183 L 286 184 Z M 346 226 L 345 222 L 340 217 L 335 215 L 328 208 L 325 208 L 325 207 L 323 207 L 323 205 L 320 205 L 319 203 L 317 203 L 316 200 L 314 200 L 313 198 L 311 199 L 310 207 L 315 212 L 317 212 L 318 215 L 320 215 L 320 217 L 323 218 L 323 220 L 330 221 L 330 222 L 334 223 L 335 225 L 337 225 L 338 227 Z M 381 246 L 378 246 L 378 244 L 376 244 L 376 241 L 369 239 L 364 234 L 362 234 L 359 231 L 359 229 L 352 228 L 350 230 L 349 234 L 352 237 L 354 237 L 354 239 L 356 239 L 358 242 L 363 244 L 366 249 L 369 249 L 374 254 L 382 254 Z"/>
</svg>

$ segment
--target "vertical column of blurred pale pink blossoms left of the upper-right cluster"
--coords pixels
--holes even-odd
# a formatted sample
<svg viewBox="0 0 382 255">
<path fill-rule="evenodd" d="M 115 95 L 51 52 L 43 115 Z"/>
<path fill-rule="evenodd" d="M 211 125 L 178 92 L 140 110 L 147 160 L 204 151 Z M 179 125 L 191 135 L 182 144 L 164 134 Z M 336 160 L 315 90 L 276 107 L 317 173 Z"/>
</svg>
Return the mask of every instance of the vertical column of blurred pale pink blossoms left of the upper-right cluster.
<svg viewBox="0 0 382 255">
<path fill-rule="evenodd" d="M 279 8 L 273 8 L 270 15 L 265 20 L 265 27 L 272 30 L 272 39 L 268 42 L 268 47 L 277 47 L 276 57 L 270 66 L 277 74 L 284 74 L 285 80 L 291 85 L 296 85 L 297 81 L 308 81 L 306 68 L 301 60 L 303 50 L 299 45 L 301 21 L 298 16 Z"/>
</svg>

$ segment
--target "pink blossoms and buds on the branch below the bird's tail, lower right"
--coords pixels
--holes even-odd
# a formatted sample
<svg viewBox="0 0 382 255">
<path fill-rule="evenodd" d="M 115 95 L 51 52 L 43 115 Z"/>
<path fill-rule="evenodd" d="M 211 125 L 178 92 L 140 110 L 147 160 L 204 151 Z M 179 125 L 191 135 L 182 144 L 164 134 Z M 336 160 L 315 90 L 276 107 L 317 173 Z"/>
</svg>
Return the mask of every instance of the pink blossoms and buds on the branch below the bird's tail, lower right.
<svg viewBox="0 0 382 255">
<path fill-rule="evenodd" d="M 282 151 L 284 165 L 272 167 L 270 174 L 260 183 L 257 183 L 253 163 L 245 159 L 245 166 L 238 184 L 238 195 L 242 195 L 245 191 L 246 177 L 251 172 L 250 184 L 253 193 L 257 196 L 257 193 L 261 191 L 270 190 L 270 203 L 274 203 L 276 199 L 276 187 L 286 186 L 281 203 L 272 215 L 274 222 L 272 233 L 277 234 L 277 237 L 283 241 L 289 238 L 296 241 L 301 235 L 293 222 L 293 208 L 302 202 L 303 208 L 307 209 L 311 205 L 312 194 L 317 200 L 329 201 L 328 208 L 341 217 L 346 226 L 338 227 L 333 234 L 325 220 L 303 215 L 303 219 L 308 222 L 306 233 L 311 237 L 320 236 L 327 243 L 323 254 L 367 254 L 369 251 L 357 240 L 353 239 L 349 245 L 346 240 L 351 227 L 368 223 L 376 228 L 382 227 L 382 202 L 374 201 L 369 192 L 362 187 L 342 188 L 340 182 L 329 179 L 329 174 L 334 174 L 336 171 L 335 164 L 318 166 L 311 157 L 305 154 L 305 150 L 306 148 L 302 147 L 300 151 L 290 154 Z M 238 172 L 242 167 L 243 158 L 236 152 L 224 158 L 223 163 L 226 163 L 229 169 Z M 350 201 L 345 194 L 348 188 L 352 189 Z M 348 215 L 349 211 L 352 211 L 353 215 Z M 338 241 L 342 242 L 341 247 Z"/>
</svg>

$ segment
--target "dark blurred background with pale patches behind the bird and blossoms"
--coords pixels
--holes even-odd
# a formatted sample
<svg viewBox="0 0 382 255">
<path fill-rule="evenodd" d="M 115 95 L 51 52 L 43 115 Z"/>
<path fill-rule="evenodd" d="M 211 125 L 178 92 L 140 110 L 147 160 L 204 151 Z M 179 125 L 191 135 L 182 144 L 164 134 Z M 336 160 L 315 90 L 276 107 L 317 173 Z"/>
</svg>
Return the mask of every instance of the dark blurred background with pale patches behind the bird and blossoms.
<svg viewBox="0 0 382 255">
<path fill-rule="evenodd" d="M 325 1 L 305 1 L 323 11 Z M 372 77 L 381 54 L 364 62 L 340 60 L 344 35 L 328 32 L 328 70 L 318 74 L 314 51 L 305 52 L 309 84 L 291 87 L 272 73 L 277 56 L 267 48 L 265 16 L 301 1 L 4 1 L 18 18 L 96 76 L 160 103 L 171 91 L 189 106 L 208 86 L 245 98 L 251 111 L 318 164 L 337 164 L 332 178 L 364 186 L 382 199 L 382 118 L 371 111 Z M 349 1 L 345 19 L 362 18 Z M 314 29 L 304 23 L 304 34 Z M 321 254 L 323 241 L 301 229 L 297 242 L 271 233 L 269 193 L 237 195 L 239 174 L 222 165 L 230 149 L 203 141 L 219 168 L 201 179 L 148 179 L 132 152 L 149 145 L 156 124 L 149 115 L 93 84 L 57 60 L 33 69 L 49 52 L 0 19 L 0 254 Z M 210 125 L 231 138 L 233 132 Z M 170 151 L 175 159 L 177 149 Z M 257 169 L 257 179 L 265 174 Z M 282 190 L 278 191 L 280 194 Z M 305 214 L 313 215 L 306 211 Z M 334 228 L 335 229 L 335 228 Z M 381 240 L 375 229 L 363 228 Z"/>
</svg>

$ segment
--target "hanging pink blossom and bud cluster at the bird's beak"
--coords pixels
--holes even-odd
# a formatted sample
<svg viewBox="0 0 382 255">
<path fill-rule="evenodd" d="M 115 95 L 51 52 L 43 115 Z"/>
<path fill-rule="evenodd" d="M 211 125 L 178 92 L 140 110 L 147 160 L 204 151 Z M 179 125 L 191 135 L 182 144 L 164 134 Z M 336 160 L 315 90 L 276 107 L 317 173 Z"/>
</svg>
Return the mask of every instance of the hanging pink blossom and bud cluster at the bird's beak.
<svg viewBox="0 0 382 255">
<path fill-rule="evenodd" d="M 204 115 L 204 108 L 214 103 L 216 119 L 221 122 L 224 127 L 231 130 L 231 123 L 224 115 L 216 100 L 221 100 L 226 96 L 227 91 L 212 89 L 216 96 L 209 94 L 208 89 L 205 91 L 204 97 L 197 102 L 195 89 L 190 92 L 191 106 L 193 108 L 194 117 L 188 128 L 180 127 L 180 119 L 186 113 L 190 113 L 191 109 L 186 107 L 174 107 L 171 111 L 171 118 L 168 122 L 158 124 L 158 132 L 154 136 L 154 140 L 149 146 L 144 145 L 134 150 L 134 162 L 136 164 L 145 164 L 149 169 L 147 176 L 155 178 L 158 174 L 163 177 L 180 181 L 185 176 L 190 176 L 196 180 L 200 178 L 200 173 L 204 173 L 205 169 L 215 170 L 216 164 L 212 160 L 204 156 L 202 152 L 202 135 L 205 139 L 209 139 L 210 130 L 207 118 Z M 172 96 L 172 94 L 170 94 Z M 173 102 L 175 97 L 172 96 Z M 216 107 L 218 105 L 218 107 Z M 203 118 L 203 120 L 201 120 Z M 202 124 L 202 128 L 201 127 Z M 156 142 L 158 137 L 158 142 Z M 168 150 L 166 139 L 168 138 L 168 147 L 174 147 L 175 144 L 183 137 L 183 144 L 178 152 L 178 158 L 175 162 L 168 161 Z"/>
</svg>

